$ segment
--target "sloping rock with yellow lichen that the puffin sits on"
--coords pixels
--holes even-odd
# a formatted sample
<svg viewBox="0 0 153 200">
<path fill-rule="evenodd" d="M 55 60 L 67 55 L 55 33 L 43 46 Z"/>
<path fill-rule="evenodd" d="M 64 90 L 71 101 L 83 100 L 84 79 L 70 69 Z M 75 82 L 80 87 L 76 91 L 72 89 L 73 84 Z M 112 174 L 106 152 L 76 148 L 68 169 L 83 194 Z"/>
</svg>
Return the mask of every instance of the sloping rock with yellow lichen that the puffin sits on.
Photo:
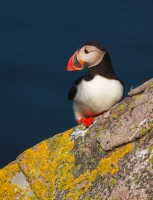
<svg viewBox="0 0 153 200">
<path fill-rule="evenodd" d="M 152 200 L 153 79 L 0 170 L 1 200 Z"/>
</svg>

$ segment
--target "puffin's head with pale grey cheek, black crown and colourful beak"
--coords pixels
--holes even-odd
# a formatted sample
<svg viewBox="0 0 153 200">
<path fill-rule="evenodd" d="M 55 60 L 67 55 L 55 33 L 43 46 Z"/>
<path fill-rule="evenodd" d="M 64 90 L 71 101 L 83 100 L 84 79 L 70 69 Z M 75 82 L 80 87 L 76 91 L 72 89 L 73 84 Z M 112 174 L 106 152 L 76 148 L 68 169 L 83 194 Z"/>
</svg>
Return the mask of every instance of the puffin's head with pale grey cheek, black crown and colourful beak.
<svg viewBox="0 0 153 200">
<path fill-rule="evenodd" d="M 96 42 L 87 42 L 82 45 L 69 59 L 67 71 L 82 70 L 98 65 L 106 50 Z"/>
</svg>

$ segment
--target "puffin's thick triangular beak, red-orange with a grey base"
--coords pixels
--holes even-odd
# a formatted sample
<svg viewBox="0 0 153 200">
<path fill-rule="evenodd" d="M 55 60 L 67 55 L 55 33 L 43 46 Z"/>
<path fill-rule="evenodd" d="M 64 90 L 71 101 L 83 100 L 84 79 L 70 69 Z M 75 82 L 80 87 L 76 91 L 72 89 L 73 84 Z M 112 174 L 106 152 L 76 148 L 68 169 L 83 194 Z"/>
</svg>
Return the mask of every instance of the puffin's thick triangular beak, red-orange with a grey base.
<svg viewBox="0 0 153 200">
<path fill-rule="evenodd" d="M 76 56 L 77 52 L 73 54 L 73 56 L 69 59 L 67 64 L 67 71 L 75 71 L 75 70 L 82 70 L 82 62 L 80 63 Z"/>
</svg>

